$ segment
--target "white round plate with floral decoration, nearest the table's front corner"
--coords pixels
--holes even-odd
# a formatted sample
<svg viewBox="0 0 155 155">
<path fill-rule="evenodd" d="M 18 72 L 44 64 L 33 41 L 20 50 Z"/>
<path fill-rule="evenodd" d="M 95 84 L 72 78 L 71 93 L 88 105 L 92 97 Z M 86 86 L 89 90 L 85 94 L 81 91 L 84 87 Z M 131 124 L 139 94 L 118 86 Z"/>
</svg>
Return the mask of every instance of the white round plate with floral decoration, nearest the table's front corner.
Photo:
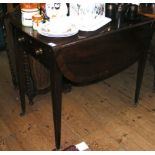
<svg viewBox="0 0 155 155">
<path fill-rule="evenodd" d="M 37 31 L 46 37 L 70 37 L 77 34 L 79 29 L 75 24 L 61 20 L 42 23 Z"/>
</svg>

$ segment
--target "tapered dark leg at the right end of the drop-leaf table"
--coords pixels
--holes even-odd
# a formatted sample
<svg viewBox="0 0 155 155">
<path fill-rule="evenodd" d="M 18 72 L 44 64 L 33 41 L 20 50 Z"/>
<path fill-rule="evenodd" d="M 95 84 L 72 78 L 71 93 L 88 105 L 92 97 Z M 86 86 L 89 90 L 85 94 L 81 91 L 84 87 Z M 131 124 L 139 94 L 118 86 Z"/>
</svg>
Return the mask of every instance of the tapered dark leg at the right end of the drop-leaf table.
<svg viewBox="0 0 155 155">
<path fill-rule="evenodd" d="M 137 71 L 137 80 L 136 80 L 136 90 L 135 90 L 135 105 L 138 104 L 140 89 L 143 80 L 143 74 L 146 64 L 147 53 L 144 53 L 138 61 L 138 71 Z"/>
</svg>

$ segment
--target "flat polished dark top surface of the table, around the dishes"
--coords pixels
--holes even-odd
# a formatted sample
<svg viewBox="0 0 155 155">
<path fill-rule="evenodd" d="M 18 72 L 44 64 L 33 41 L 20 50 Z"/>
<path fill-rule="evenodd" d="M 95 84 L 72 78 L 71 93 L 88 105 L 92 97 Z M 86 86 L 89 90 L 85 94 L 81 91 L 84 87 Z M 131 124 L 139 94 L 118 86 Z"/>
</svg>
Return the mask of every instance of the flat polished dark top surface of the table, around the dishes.
<svg viewBox="0 0 155 155">
<path fill-rule="evenodd" d="M 106 35 L 107 33 L 113 33 L 113 32 L 121 31 L 124 29 L 129 29 L 129 28 L 141 25 L 141 24 L 143 25 L 153 20 L 153 19 L 140 15 L 135 21 L 123 22 L 120 28 L 117 28 L 116 22 L 110 22 L 106 24 L 105 26 L 101 27 L 100 29 L 93 31 L 93 32 L 79 31 L 78 34 L 71 36 L 71 37 L 54 38 L 54 37 L 42 36 L 37 31 L 33 30 L 33 28 L 22 26 L 21 13 L 19 9 L 16 9 L 13 13 L 10 13 L 10 19 L 11 19 L 11 22 L 13 22 L 17 27 L 20 27 L 20 29 L 23 32 L 27 33 L 28 35 L 36 38 L 37 40 L 45 43 L 46 45 L 49 45 L 49 46 L 55 45 L 53 46 L 53 49 L 58 49 L 64 46 L 69 46 L 71 44 L 76 44 L 78 42 L 88 40 L 94 37 L 98 37 L 100 35 Z"/>
</svg>

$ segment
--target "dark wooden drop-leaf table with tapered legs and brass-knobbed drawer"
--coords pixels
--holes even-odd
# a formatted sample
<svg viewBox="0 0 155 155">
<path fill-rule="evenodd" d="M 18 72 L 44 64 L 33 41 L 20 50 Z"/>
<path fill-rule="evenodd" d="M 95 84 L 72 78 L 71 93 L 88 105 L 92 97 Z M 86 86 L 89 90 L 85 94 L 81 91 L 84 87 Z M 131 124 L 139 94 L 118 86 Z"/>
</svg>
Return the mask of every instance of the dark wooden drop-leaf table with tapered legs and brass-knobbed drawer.
<svg viewBox="0 0 155 155">
<path fill-rule="evenodd" d="M 62 77 L 75 84 L 88 84 L 109 78 L 138 61 L 135 103 L 138 101 L 154 20 L 139 15 L 120 27 L 110 22 L 94 32 L 67 38 L 44 37 L 21 25 L 19 10 L 6 18 L 14 39 L 22 115 L 25 113 L 23 58 L 32 55 L 49 71 L 56 148 L 60 148 Z"/>
</svg>

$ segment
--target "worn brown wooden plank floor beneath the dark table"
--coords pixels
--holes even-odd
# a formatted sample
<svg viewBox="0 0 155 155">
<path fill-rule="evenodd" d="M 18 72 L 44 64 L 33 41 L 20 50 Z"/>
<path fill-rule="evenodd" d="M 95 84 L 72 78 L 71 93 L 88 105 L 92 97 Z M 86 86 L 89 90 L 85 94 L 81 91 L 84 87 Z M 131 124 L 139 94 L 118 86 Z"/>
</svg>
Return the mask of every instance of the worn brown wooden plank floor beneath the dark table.
<svg viewBox="0 0 155 155">
<path fill-rule="evenodd" d="M 139 105 L 133 105 L 137 64 L 112 78 L 63 94 L 62 148 L 85 141 L 90 150 L 155 150 L 153 70 L 147 64 Z M 0 52 L 0 150 L 54 149 L 50 94 L 19 116 L 5 52 Z"/>
</svg>

